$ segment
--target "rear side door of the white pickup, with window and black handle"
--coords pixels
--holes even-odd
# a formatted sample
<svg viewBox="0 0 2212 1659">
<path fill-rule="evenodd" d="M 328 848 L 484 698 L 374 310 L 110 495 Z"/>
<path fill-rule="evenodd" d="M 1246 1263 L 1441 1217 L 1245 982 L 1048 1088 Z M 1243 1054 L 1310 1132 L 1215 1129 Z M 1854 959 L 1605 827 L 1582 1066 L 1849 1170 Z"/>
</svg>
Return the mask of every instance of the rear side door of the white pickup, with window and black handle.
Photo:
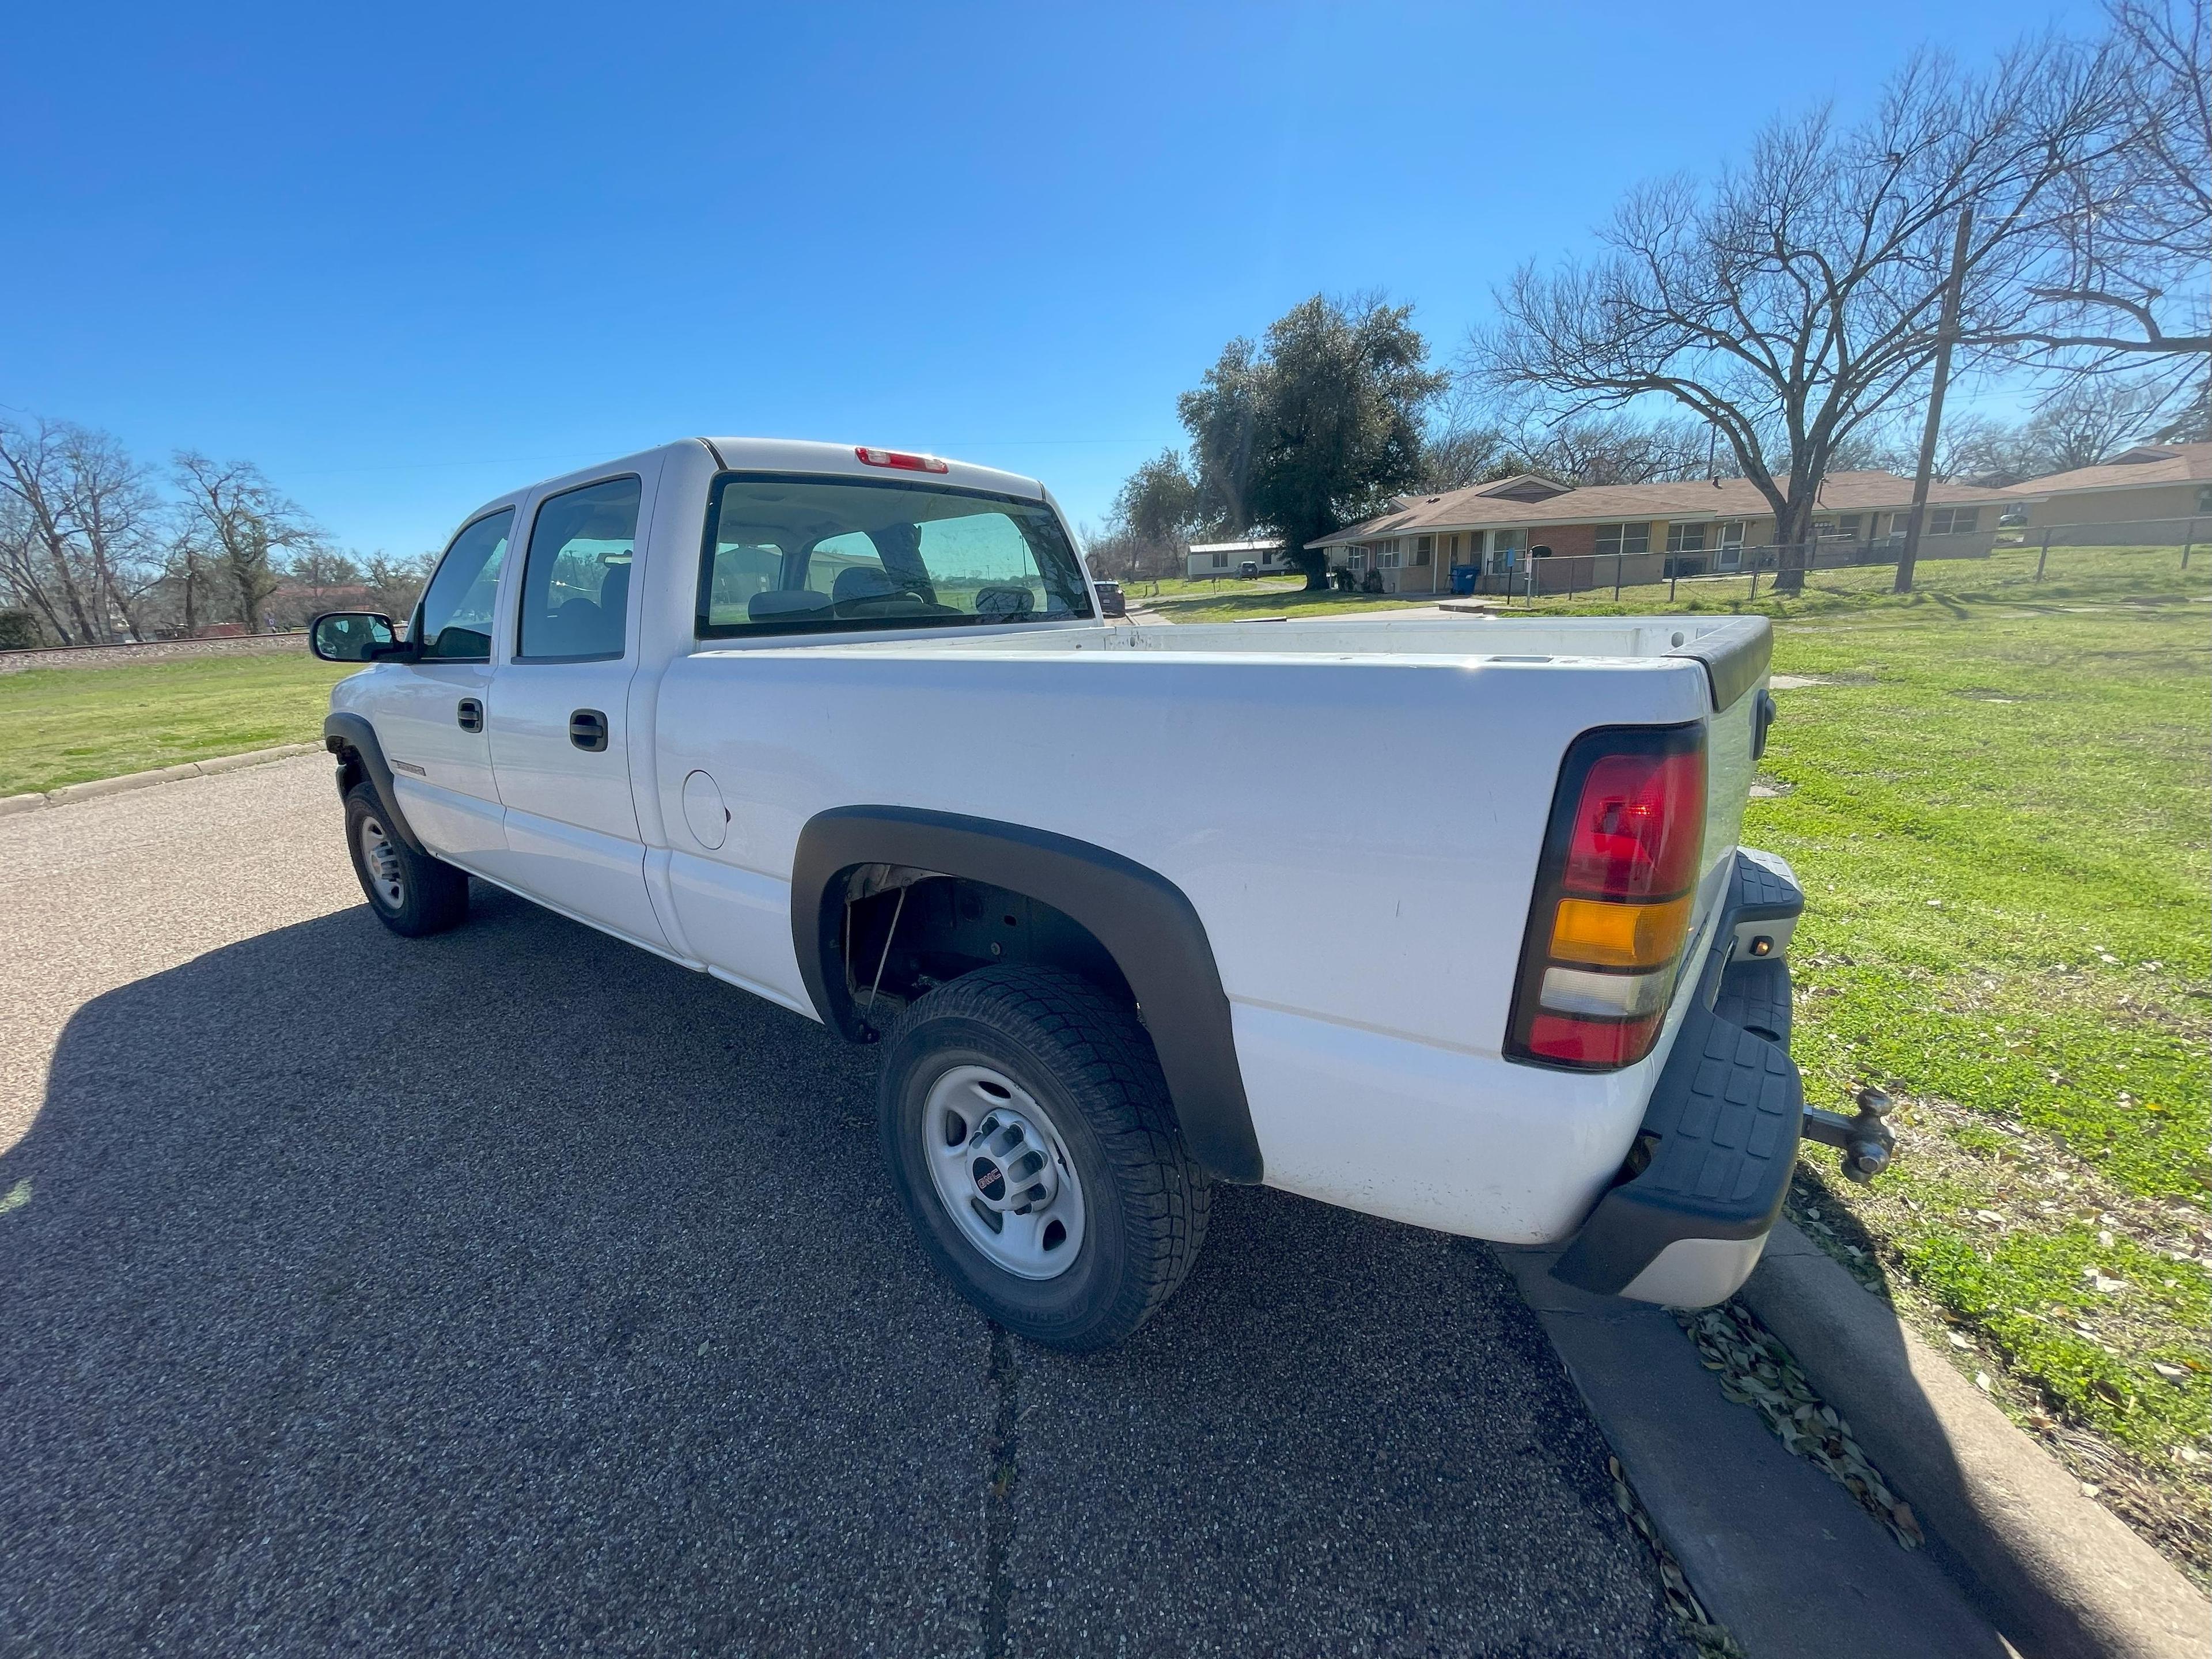
<svg viewBox="0 0 2212 1659">
<path fill-rule="evenodd" d="M 657 469 L 653 469 L 657 473 Z M 626 471 L 538 502 L 515 650 L 493 679 L 491 763 L 507 805 L 500 876 L 655 949 L 646 847 L 630 801 L 639 515 L 655 478 Z"/>
</svg>

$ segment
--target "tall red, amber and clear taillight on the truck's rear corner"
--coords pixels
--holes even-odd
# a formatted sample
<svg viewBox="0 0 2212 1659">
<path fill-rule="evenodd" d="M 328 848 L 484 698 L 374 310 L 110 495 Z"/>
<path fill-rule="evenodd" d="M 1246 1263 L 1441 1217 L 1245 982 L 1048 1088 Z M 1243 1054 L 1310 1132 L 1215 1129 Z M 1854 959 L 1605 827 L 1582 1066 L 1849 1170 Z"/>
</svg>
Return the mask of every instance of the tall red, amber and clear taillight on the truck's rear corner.
<svg viewBox="0 0 2212 1659">
<path fill-rule="evenodd" d="M 1652 1051 L 1705 847 L 1705 728 L 1584 732 L 1544 832 L 1511 1060 L 1613 1071 Z"/>
</svg>

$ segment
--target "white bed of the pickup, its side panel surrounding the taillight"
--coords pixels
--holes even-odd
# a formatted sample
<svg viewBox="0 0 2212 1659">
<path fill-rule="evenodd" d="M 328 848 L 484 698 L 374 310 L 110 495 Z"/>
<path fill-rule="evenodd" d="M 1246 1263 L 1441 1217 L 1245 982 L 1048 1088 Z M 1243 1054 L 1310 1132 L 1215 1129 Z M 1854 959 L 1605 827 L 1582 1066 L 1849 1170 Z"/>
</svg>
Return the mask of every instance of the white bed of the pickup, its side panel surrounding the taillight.
<svg viewBox="0 0 2212 1659">
<path fill-rule="evenodd" d="M 677 849 L 670 874 L 692 914 L 745 933 L 732 953 L 765 960 L 816 812 L 883 801 L 1104 845 L 1177 883 L 1214 940 L 1245 1084 L 1272 1104 L 1270 1183 L 1551 1241 L 1588 1212 L 1666 1057 L 1663 1042 L 1615 1073 L 1502 1062 L 1562 754 L 1590 728 L 1708 721 L 1705 940 L 1767 648 L 1763 617 L 703 648 L 659 686 L 661 812 L 681 821 L 675 790 L 701 768 L 734 821 L 714 858 Z M 796 962 L 752 989 L 805 1006 Z M 1347 1135 L 1396 1148 L 1389 1181 L 1345 1157 Z"/>
</svg>

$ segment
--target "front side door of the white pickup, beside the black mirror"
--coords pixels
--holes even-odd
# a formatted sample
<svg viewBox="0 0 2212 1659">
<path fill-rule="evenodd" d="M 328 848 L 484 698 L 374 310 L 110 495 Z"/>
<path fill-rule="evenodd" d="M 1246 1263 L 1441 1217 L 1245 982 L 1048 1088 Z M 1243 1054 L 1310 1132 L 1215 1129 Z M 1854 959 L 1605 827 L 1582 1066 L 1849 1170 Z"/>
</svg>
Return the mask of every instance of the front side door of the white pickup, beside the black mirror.
<svg viewBox="0 0 2212 1659">
<path fill-rule="evenodd" d="M 376 699 L 376 737 L 400 812 L 431 852 L 471 867 L 493 865 L 507 845 L 484 726 L 491 619 L 513 526 L 513 507 L 462 526 L 416 604 L 409 635 L 422 655 L 376 670 L 392 681 Z"/>
</svg>

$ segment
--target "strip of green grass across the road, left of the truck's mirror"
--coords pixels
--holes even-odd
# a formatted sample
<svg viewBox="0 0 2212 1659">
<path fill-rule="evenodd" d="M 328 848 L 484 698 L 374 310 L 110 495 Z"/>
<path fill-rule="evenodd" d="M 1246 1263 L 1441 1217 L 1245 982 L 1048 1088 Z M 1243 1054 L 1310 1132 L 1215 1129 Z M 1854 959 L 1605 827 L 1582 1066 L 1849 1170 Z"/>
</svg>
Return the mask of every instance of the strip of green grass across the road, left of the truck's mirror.
<svg viewBox="0 0 2212 1659">
<path fill-rule="evenodd" d="M 314 741 L 345 672 L 288 650 L 0 675 L 0 794 Z"/>
</svg>

